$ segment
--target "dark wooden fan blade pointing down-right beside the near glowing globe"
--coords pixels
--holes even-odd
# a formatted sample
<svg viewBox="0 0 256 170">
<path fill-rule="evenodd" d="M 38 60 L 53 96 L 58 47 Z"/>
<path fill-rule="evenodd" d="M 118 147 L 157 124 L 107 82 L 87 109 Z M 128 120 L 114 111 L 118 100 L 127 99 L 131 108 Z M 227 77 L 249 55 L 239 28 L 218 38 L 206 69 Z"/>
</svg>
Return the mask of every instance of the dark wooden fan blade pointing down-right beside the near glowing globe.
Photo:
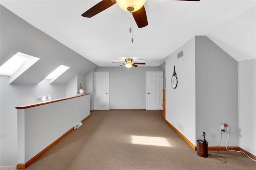
<svg viewBox="0 0 256 170">
<path fill-rule="evenodd" d="M 132 16 L 136 21 L 138 28 L 142 28 L 148 25 L 147 14 L 144 6 L 142 6 L 138 11 L 132 12 Z"/>
</svg>

